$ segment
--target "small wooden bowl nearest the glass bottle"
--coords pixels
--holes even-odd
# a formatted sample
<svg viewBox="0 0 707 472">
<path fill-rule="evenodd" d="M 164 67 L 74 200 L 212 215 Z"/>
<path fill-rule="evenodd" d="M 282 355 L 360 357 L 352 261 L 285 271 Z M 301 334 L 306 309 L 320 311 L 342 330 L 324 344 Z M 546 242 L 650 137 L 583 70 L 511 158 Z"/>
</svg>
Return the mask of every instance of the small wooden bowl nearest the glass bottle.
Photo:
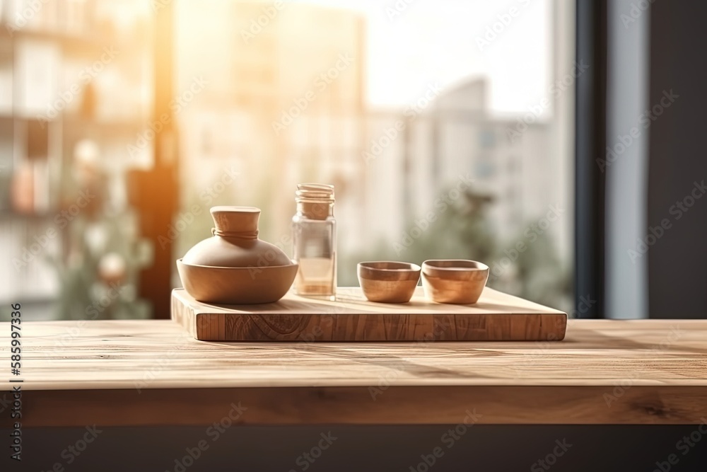
<svg viewBox="0 0 707 472">
<path fill-rule="evenodd" d="M 380 303 L 407 303 L 420 280 L 420 266 L 388 260 L 358 263 L 356 272 L 363 295 Z"/>
</svg>

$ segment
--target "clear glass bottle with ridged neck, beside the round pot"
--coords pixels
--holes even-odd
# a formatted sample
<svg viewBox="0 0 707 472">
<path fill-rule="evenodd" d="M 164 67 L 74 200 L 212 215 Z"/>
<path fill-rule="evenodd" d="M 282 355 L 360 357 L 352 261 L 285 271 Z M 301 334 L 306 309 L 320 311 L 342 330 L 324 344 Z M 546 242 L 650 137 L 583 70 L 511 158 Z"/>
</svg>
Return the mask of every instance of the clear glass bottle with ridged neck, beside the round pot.
<svg viewBox="0 0 707 472">
<path fill-rule="evenodd" d="M 334 300 L 337 289 L 337 221 L 334 185 L 300 183 L 292 217 L 293 259 L 300 265 L 295 292 Z"/>
</svg>

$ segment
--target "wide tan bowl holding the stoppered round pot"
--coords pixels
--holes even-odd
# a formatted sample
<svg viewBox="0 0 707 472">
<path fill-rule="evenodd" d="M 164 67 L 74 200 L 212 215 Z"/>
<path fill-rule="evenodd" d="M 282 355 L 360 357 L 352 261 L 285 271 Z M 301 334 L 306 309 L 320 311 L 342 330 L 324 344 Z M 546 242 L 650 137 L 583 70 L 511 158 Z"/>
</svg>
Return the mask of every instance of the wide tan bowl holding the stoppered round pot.
<svg viewBox="0 0 707 472">
<path fill-rule="evenodd" d="M 278 301 L 290 289 L 298 264 L 267 267 L 212 267 L 177 260 L 187 293 L 204 303 L 261 304 Z"/>
</svg>

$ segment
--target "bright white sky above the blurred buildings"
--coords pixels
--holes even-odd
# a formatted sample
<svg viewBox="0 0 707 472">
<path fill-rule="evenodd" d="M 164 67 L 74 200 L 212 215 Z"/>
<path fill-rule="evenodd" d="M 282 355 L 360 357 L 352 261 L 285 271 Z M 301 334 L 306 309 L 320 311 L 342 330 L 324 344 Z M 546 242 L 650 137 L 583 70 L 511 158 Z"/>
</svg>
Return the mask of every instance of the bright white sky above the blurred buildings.
<svg viewBox="0 0 707 472">
<path fill-rule="evenodd" d="M 371 105 L 407 105 L 429 84 L 479 76 L 489 78 L 494 113 L 527 111 L 549 95 L 551 0 L 301 1 L 366 15 Z M 405 8 L 391 17 L 387 8 L 396 4 Z M 499 33 L 480 50 L 477 38 L 494 26 Z"/>
</svg>

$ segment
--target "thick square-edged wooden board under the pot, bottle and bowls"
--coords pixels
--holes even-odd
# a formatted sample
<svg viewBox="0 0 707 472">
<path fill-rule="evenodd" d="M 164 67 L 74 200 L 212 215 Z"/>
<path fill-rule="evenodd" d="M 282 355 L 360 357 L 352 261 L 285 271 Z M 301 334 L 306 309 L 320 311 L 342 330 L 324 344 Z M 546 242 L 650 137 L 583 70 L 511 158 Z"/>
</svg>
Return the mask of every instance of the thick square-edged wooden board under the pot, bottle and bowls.
<svg viewBox="0 0 707 472">
<path fill-rule="evenodd" d="M 204 341 L 559 341 L 567 315 L 486 287 L 477 304 L 437 304 L 418 287 L 407 304 L 366 300 L 358 287 L 337 301 L 298 297 L 261 305 L 211 305 L 172 292 L 172 319 Z"/>
</svg>

